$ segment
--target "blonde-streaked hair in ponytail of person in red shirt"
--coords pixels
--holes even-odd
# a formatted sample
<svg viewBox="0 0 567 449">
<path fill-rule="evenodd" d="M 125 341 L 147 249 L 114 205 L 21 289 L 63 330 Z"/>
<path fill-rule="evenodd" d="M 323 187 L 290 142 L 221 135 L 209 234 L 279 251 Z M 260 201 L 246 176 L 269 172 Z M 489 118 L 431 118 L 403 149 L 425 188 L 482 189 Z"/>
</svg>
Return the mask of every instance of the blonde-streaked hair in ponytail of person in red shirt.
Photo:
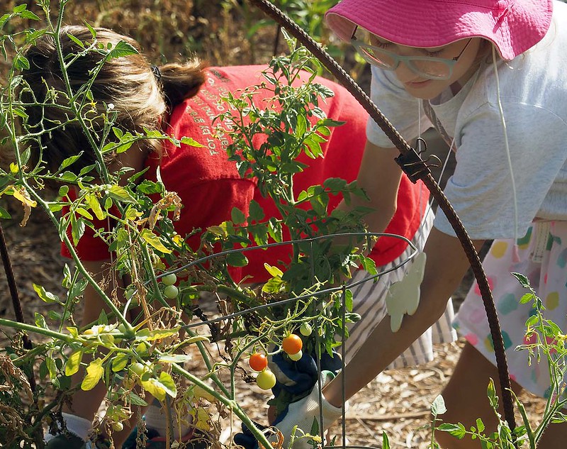
<svg viewBox="0 0 567 449">
<path fill-rule="evenodd" d="M 94 113 L 88 117 L 91 118 L 91 131 L 98 139 L 103 132 L 104 114 L 109 104 L 113 104 L 112 110 L 118 114 L 113 126 L 123 132 L 142 132 L 144 128 L 159 130 L 167 111 L 194 96 L 205 79 L 205 65 L 198 59 L 152 70 L 135 40 L 106 28 L 96 28 L 93 38 L 85 26 L 64 26 L 58 37 L 64 60 L 76 58 L 66 70 L 73 92 L 89 82 L 89 73 L 104 61 L 106 52 L 101 49 L 114 48 L 123 41 L 138 52 L 106 60 L 94 79 L 89 104 Z M 85 51 L 77 40 L 84 43 L 85 48 L 94 41 L 94 48 Z M 29 140 L 33 155 L 31 162 L 38 162 L 41 158 L 53 172 L 67 157 L 83 152 L 79 160 L 69 167 L 69 170 L 78 173 L 83 167 L 94 164 L 96 157 L 78 121 L 65 111 L 69 100 L 55 38 L 49 34 L 38 38 L 27 50 L 26 57 L 30 67 L 23 71 L 23 79 L 29 89 L 21 89 L 21 100 L 26 104 L 28 114 L 25 126 L 33 135 Z M 55 99 L 52 96 L 54 91 L 57 92 Z M 64 123 L 64 126 L 57 126 L 58 123 Z M 50 131 L 45 131 L 47 129 Z M 114 138 L 113 133 L 108 138 Z M 161 151 L 157 140 L 140 140 L 139 146 L 147 153 Z M 108 154 L 106 165 L 115 159 L 116 154 Z"/>
</svg>

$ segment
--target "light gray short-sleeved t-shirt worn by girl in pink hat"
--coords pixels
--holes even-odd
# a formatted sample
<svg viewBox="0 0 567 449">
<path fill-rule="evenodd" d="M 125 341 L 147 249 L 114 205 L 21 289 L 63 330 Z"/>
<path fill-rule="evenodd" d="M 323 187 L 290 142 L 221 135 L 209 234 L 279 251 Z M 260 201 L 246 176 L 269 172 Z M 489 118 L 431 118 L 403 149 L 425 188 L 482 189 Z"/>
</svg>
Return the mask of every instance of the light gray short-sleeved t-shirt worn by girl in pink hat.
<svg viewBox="0 0 567 449">
<path fill-rule="evenodd" d="M 450 90 L 431 101 L 444 130 L 454 138 L 456 168 L 445 194 L 473 239 L 514 238 L 536 219 L 567 220 L 567 5 L 554 2 L 549 32 L 512 61 L 498 59 L 512 172 L 498 108 L 492 62 L 455 96 Z M 420 100 L 403 89 L 393 72 L 372 67 L 371 97 L 406 140 L 431 126 Z M 371 143 L 393 145 L 369 121 Z M 454 235 L 444 214 L 434 226 Z"/>
</svg>

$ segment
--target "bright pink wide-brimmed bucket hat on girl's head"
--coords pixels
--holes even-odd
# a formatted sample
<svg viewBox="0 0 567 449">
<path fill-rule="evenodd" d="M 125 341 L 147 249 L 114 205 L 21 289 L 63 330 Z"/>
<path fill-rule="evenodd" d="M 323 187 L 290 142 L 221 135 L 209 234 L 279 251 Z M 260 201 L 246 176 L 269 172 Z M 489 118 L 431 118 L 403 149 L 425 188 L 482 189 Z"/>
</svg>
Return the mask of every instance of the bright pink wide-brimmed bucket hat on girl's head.
<svg viewBox="0 0 567 449">
<path fill-rule="evenodd" d="M 544 37 L 552 10 L 552 0 L 342 0 L 325 18 L 342 40 L 357 25 L 408 47 L 479 37 L 512 60 Z"/>
</svg>

